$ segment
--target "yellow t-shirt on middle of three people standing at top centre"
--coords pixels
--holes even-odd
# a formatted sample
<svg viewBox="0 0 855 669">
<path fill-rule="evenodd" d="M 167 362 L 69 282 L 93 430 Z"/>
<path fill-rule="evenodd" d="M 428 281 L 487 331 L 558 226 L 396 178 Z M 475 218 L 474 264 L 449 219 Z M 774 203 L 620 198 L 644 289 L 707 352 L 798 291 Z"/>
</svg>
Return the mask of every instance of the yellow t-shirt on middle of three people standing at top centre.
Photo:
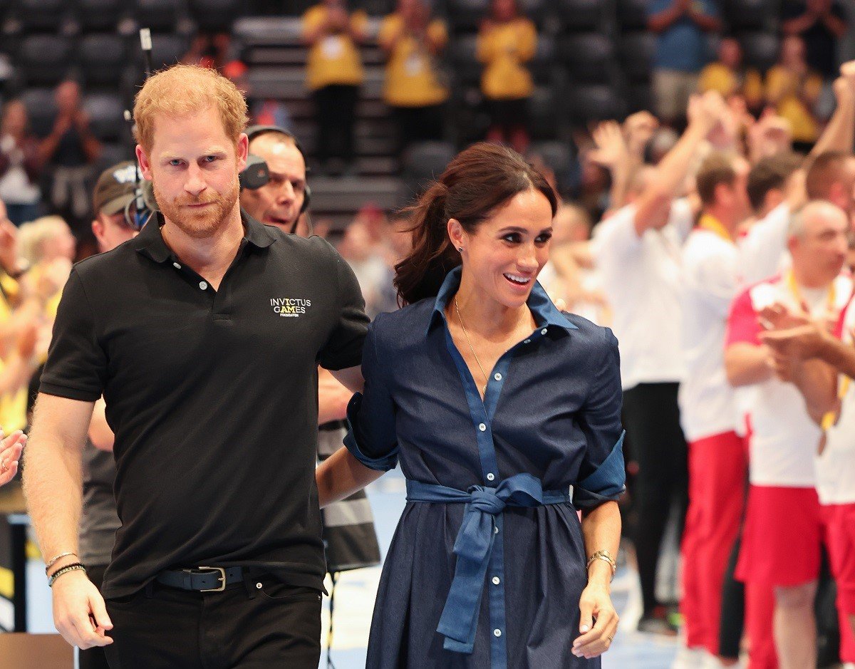
<svg viewBox="0 0 855 669">
<path fill-rule="evenodd" d="M 383 44 L 404 31 L 404 20 L 390 14 L 380 23 L 377 41 Z M 445 45 L 448 32 L 445 23 L 435 19 L 428 25 L 428 37 L 433 44 Z M 439 72 L 427 47 L 412 35 L 398 39 L 386 63 L 386 84 L 383 100 L 392 107 L 427 107 L 448 98 L 448 89 L 439 83 Z"/>
</svg>

